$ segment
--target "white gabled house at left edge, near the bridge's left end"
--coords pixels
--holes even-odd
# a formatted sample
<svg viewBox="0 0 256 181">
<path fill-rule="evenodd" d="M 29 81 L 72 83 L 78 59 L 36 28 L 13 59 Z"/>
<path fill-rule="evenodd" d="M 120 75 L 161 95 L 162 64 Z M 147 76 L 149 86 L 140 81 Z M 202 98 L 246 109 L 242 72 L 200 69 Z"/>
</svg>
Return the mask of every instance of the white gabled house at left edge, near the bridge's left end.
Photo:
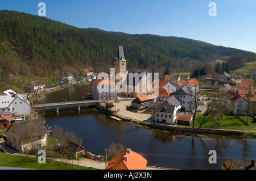
<svg viewBox="0 0 256 181">
<path fill-rule="evenodd" d="M 22 95 L 7 90 L 0 94 L 0 113 L 15 115 L 29 115 L 30 103 Z"/>
</svg>

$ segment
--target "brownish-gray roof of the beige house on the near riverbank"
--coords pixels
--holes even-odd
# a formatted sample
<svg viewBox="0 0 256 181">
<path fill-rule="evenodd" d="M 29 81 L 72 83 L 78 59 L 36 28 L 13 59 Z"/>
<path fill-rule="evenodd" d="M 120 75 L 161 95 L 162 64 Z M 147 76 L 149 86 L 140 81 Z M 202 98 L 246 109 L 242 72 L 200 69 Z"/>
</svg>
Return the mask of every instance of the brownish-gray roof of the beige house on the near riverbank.
<svg viewBox="0 0 256 181">
<path fill-rule="evenodd" d="M 30 121 L 23 121 L 20 123 L 13 123 L 7 129 L 7 131 L 9 131 L 11 127 L 15 129 L 16 133 L 22 140 L 30 137 L 47 134 L 47 129 L 46 127 L 44 127 L 42 119 L 34 119 Z"/>
</svg>

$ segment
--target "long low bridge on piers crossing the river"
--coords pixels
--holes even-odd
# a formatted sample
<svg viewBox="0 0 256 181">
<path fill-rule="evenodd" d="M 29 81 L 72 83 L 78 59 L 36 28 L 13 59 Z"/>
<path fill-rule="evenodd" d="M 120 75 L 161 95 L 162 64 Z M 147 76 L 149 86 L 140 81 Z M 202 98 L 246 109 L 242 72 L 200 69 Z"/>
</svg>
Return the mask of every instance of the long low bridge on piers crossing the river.
<svg viewBox="0 0 256 181">
<path fill-rule="evenodd" d="M 81 106 L 92 106 L 100 103 L 105 103 L 105 101 L 104 100 L 79 100 L 79 101 L 61 102 L 61 103 L 34 104 L 32 105 L 32 108 L 34 108 L 34 110 L 55 110 L 55 112 L 58 113 L 60 108 L 75 107 L 77 111 L 80 111 Z"/>
</svg>

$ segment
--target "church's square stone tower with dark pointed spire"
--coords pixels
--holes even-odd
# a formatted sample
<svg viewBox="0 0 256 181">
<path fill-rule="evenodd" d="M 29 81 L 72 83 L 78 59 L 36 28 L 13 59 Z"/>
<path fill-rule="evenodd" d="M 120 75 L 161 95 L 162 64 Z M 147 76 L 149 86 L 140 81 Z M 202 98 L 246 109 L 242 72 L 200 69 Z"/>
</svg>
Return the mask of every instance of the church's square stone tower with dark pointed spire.
<svg viewBox="0 0 256 181">
<path fill-rule="evenodd" d="M 118 73 L 126 74 L 126 60 L 125 54 L 123 53 L 123 46 L 118 47 L 117 58 L 115 60 L 115 83 L 119 82 L 119 77 L 117 77 Z"/>
</svg>

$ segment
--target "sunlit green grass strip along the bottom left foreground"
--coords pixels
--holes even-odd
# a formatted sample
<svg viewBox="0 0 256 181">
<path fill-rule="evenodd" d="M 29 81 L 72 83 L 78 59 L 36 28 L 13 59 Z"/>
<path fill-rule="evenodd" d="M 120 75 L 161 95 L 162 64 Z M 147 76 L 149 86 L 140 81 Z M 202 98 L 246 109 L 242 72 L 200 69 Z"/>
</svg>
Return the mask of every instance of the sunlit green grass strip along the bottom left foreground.
<svg viewBox="0 0 256 181">
<path fill-rule="evenodd" d="M 34 157 L 23 157 L 17 155 L 9 155 L 0 151 L 0 166 L 19 167 L 36 170 L 95 170 L 88 167 L 72 165 L 69 163 L 47 161 L 46 163 L 38 163 Z"/>
</svg>

